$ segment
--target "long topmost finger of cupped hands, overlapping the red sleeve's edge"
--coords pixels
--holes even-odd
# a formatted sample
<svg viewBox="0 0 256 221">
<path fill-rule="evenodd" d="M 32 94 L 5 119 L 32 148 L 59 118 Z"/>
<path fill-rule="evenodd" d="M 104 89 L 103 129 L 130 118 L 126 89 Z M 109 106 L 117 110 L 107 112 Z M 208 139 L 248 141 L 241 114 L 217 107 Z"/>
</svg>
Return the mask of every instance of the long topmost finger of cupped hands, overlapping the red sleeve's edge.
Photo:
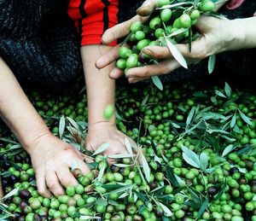
<svg viewBox="0 0 256 221">
<path fill-rule="evenodd" d="M 109 28 L 106 32 L 102 35 L 102 43 L 103 44 L 110 44 L 114 40 L 117 40 L 119 38 L 125 37 L 130 32 L 130 26 L 133 22 L 140 20 L 145 21 L 146 17 L 141 17 L 139 15 L 134 16 L 131 18 L 131 20 L 126 20 L 125 22 L 122 22 L 116 26 L 113 26 Z"/>
</svg>

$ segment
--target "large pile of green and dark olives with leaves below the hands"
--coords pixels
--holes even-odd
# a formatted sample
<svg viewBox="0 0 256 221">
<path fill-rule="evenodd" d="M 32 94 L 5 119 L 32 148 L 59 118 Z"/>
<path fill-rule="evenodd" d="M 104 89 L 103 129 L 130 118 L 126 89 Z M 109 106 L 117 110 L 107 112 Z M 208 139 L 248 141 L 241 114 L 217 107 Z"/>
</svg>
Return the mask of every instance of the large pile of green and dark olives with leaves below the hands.
<svg viewBox="0 0 256 221">
<path fill-rule="evenodd" d="M 142 146 L 147 163 L 123 155 L 108 166 L 98 154 L 85 176 L 73 168 L 79 184 L 59 197 L 38 195 L 28 155 L 0 142 L 4 192 L 19 189 L 4 201 L 9 220 L 255 221 L 256 97 L 227 85 L 201 87 L 118 88 L 117 125 Z M 84 96 L 30 99 L 56 136 L 61 115 L 87 120 Z"/>
</svg>

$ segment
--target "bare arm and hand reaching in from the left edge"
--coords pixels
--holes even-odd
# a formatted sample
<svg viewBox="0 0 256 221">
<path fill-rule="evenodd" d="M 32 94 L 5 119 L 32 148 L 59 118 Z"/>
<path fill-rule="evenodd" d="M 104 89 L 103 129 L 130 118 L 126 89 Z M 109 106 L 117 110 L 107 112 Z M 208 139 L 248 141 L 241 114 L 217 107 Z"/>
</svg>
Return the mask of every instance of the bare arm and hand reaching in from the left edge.
<svg viewBox="0 0 256 221">
<path fill-rule="evenodd" d="M 30 154 L 41 195 L 50 196 L 49 190 L 61 195 L 64 194 L 62 185 L 77 183 L 69 171 L 73 160 L 79 163 L 83 172 L 89 172 L 83 154 L 50 133 L 1 57 L 0 116 Z"/>
</svg>

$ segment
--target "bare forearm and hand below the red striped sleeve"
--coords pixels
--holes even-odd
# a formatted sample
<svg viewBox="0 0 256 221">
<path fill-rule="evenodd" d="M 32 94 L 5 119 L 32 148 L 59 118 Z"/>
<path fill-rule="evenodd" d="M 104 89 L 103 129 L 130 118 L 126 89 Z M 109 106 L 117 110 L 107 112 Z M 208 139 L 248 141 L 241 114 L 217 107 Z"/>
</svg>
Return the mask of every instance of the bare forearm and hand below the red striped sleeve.
<svg viewBox="0 0 256 221">
<path fill-rule="evenodd" d="M 86 148 L 95 150 L 103 142 L 109 142 L 110 146 L 105 154 L 120 154 L 126 152 L 124 145 L 126 136 L 118 131 L 114 116 L 109 121 L 103 119 L 102 116 L 103 110 L 108 104 L 114 105 L 115 81 L 108 77 L 114 64 L 112 63 L 102 70 L 95 67 L 96 59 L 109 49 L 111 47 L 103 45 L 87 45 L 81 49 L 89 108 L 89 132 L 86 137 Z"/>
</svg>

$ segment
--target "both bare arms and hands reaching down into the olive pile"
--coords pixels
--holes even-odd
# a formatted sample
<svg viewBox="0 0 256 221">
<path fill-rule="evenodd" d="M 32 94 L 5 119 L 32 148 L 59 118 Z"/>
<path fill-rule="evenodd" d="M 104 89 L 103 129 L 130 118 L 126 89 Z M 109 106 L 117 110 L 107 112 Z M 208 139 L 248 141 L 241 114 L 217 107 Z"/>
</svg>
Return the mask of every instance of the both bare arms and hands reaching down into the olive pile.
<svg viewBox="0 0 256 221">
<path fill-rule="evenodd" d="M 114 65 L 100 71 L 94 64 L 109 49 L 99 45 L 81 48 L 89 107 L 89 132 L 85 146 L 96 150 L 103 142 L 109 142 L 105 155 L 126 153 L 126 136 L 118 131 L 114 116 L 108 121 L 102 117 L 108 104 L 114 106 L 115 82 L 108 77 Z M 84 163 L 84 154 L 51 134 L 1 57 L 0 73 L 0 115 L 32 158 L 39 194 L 45 197 L 65 194 L 64 187 L 78 183 L 70 172 L 73 160 L 84 174 L 90 171 Z M 3 194 L 1 184 L 0 194 Z"/>
</svg>

